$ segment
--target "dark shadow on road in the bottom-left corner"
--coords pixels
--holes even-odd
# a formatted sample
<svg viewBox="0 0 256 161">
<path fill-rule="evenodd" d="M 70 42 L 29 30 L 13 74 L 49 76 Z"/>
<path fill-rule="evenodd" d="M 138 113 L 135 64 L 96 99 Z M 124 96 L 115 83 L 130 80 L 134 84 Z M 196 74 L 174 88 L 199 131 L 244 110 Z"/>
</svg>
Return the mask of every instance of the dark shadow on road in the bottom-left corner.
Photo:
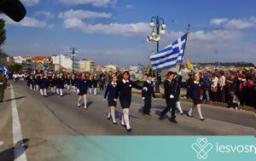
<svg viewBox="0 0 256 161">
<path fill-rule="evenodd" d="M 26 151 L 28 141 L 28 139 L 23 139 L 22 141 L 18 141 L 14 147 L 3 150 L 0 152 L 0 159 L 4 161 L 14 161 L 16 158 L 19 158 Z"/>
</svg>

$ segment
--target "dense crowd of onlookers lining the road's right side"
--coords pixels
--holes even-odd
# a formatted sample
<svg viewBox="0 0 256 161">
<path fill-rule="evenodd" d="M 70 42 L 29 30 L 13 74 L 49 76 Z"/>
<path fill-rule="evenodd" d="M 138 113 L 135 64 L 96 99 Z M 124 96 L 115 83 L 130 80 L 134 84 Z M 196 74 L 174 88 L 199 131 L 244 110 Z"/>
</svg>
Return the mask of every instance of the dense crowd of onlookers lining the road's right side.
<svg viewBox="0 0 256 161">
<path fill-rule="evenodd" d="M 202 93 L 204 100 L 227 103 L 233 108 L 238 106 L 256 108 L 256 69 L 208 71 L 200 74 L 204 86 Z M 193 77 L 193 74 L 189 74 L 187 84 L 194 81 Z"/>
</svg>

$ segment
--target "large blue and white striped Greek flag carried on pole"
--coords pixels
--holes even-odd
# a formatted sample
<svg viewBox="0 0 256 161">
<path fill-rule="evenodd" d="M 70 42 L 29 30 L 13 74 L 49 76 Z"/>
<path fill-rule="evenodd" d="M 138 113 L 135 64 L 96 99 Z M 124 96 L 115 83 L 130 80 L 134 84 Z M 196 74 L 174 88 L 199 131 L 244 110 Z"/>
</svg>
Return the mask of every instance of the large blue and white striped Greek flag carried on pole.
<svg viewBox="0 0 256 161">
<path fill-rule="evenodd" d="M 151 66 L 154 71 L 162 71 L 182 63 L 183 51 L 185 49 L 187 34 L 179 37 L 174 43 L 168 45 L 150 56 Z"/>
</svg>

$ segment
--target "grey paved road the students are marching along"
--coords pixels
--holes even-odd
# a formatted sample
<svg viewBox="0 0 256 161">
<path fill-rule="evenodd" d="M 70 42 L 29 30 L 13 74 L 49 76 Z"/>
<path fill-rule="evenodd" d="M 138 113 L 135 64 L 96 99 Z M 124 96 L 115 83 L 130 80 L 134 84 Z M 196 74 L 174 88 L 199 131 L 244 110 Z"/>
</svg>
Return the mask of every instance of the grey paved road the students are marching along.
<svg viewBox="0 0 256 161">
<path fill-rule="evenodd" d="M 13 97 L 11 91 L 14 91 Z M 118 125 L 107 120 L 108 103 L 100 95 L 88 95 L 88 110 L 76 107 L 77 95 L 66 91 L 63 97 L 49 95 L 44 98 L 39 92 L 27 88 L 26 83 L 13 83 L 6 90 L 5 102 L 0 104 L 0 161 L 14 160 L 21 153 L 14 152 L 14 140 L 17 138 L 16 122 L 20 123 L 21 144 L 15 147 L 26 151 L 26 159 L 56 160 L 51 150 L 61 151 L 52 142 L 57 136 L 77 135 L 255 135 L 255 114 L 236 111 L 216 106 L 203 106 L 206 120 L 177 115 L 178 124 L 172 124 L 167 117 L 158 120 L 158 112 L 165 106 L 165 101 L 153 102 L 153 117 L 143 117 L 143 101 L 139 95 L 133 95 L 131 104 L 131 126 L 127 133 Z M 18 115 L 14 114 L 16 106 Z M 188 111 L 191 103 L 183 102 L 183 110 Z M 117 106 L 117 117 L 120 116 Z M 195 112 L 195 116 L 197 113 Z M 170 114 L 169 114 L 170 116 Z M 15 118 L 14 118 L 15 117 Z M 16 119 L 18 117 L 18 119 Z M 18 120 L 18 121 L 17 121 Z M 24 143 L 24 144 L 23 144 Z M 48 152 L 47 154 L 45 152 Z M 53 152 L 52 151 L 52 152 Z M 39 157 L 38 157 L 39 156 Z M 55 156 L 55 157 L 54 157 Z M 40 158 L 40 159 L 39 159 Z"/>
</svg>

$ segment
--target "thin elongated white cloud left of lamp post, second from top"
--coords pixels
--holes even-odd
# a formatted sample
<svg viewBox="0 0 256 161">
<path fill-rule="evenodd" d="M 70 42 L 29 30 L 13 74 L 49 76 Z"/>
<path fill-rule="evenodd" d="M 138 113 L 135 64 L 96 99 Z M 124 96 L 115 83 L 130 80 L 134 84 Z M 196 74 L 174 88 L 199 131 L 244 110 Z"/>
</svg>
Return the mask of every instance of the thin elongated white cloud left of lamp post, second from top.
<svg viewBox="0 0 256 161">
<path fill-rule="evenodd" d="M 110 18 L 112 14 L 107 14 L 104 12 L 92 12 L 89 10 L 73 10 L 70 9 L 64 13 L 59 14 L 59 18 L 62 19 L 93 19 L 93 18 Z"/>
</svg>

